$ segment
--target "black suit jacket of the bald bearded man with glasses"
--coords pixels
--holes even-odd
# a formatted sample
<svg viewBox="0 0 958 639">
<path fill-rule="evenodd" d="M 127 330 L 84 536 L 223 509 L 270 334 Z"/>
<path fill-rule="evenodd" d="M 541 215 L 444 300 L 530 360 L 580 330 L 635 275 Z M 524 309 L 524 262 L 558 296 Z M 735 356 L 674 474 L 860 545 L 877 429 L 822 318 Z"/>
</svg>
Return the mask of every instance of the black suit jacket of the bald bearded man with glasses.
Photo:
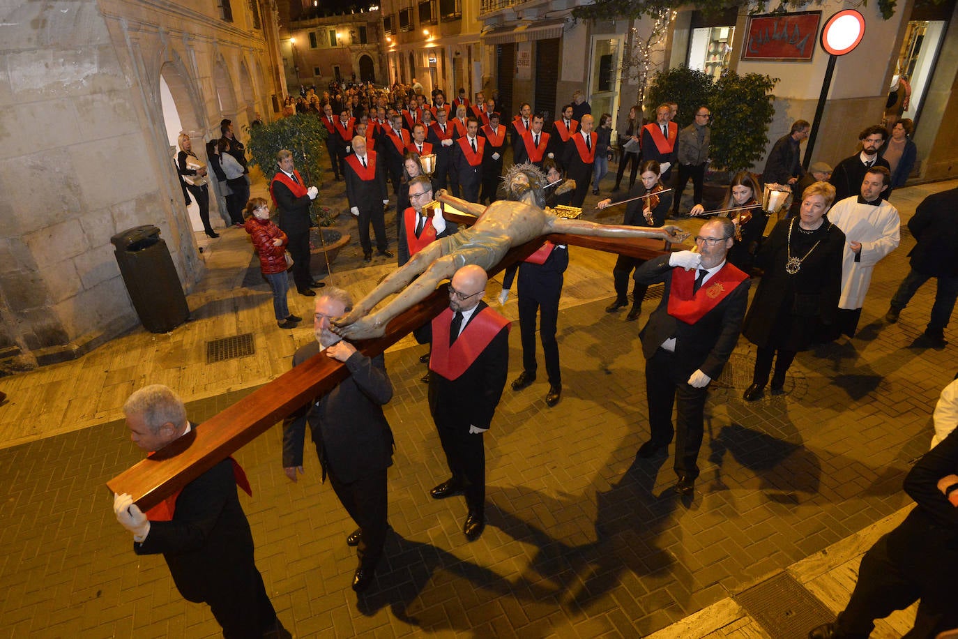
<svg viewBox="0 0 958 639">
<path fill-rule="evenodd" d="M 469 322 L 488 305 L 480 302 Z M 468 324 L 466 325 L 468 326 Z M 463 327 L 463 331 L 466 327 Z M 463 339 L 460 333 L 459 339 Z M 458 379 L 429 377 L 429 411 L 441 428 L 489 428 L 509 375 L 509 327 L 503 327 Z"/>
</svg>

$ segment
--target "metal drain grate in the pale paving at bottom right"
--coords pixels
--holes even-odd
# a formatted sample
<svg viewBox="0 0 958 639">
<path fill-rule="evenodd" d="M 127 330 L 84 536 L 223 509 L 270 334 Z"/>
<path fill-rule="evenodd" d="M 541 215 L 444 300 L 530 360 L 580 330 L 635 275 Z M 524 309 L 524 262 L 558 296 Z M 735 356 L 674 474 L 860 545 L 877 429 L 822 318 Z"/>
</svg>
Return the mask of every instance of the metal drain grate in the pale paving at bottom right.
<svg viewBox="0 0 958 639">
<path fill-rule="evenodd" d="M 809 630 L 834 621 L 834 613 L 787 573 L 779 573 L 733 599 L 772 639 L 805 639 Z"/>
</svg>

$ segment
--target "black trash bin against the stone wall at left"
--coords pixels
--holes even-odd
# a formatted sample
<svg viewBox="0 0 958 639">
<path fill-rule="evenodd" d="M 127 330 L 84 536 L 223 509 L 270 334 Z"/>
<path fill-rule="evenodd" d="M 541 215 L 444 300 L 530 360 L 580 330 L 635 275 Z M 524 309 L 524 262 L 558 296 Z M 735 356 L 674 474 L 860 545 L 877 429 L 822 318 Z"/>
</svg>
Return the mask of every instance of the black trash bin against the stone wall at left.
<svg viewBox="0 0 958 639">
<path fill-rule="evenodd" d="M 133 308 L 150 332 L 169 332 L 190 319 L 190 307 L 160 229 L 148 224 L 118 233 L 117 263 Z"/>
</svg>

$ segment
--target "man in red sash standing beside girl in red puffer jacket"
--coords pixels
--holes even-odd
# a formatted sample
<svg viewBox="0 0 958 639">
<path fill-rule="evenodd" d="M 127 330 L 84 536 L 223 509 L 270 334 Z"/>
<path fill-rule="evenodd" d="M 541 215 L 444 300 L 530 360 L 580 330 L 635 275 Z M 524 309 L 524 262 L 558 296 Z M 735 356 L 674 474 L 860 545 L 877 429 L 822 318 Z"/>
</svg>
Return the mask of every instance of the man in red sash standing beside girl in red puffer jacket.
<svg viewBox="0 0 958 639">
<path fill-rule="evenodd" d="M 303 176 L 293 167 L 293 154 L 285 148 L 276 154 L 276 171 L 269 183 L 269 193 L 280 210 L 279 226 L 289 240 L 287 248 L 293 258 L 293 281 L 300 295 L 315 295 L 311 289 L 322 286 L 312 279 L 309 268 L 309 204 L 319 194 L 316 187 L 307 188 Z"/>
</svg>

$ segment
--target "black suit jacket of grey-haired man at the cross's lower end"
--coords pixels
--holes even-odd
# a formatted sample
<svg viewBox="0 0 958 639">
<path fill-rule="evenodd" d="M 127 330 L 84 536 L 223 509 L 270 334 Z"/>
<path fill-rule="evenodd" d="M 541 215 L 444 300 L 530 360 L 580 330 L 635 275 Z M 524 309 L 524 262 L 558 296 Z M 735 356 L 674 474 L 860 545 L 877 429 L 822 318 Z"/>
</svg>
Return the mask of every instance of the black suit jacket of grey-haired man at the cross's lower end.
<svg viewBox="0 0 958 639">
<path fill-rule="evenodd" d="M 151 521 L 137 555 L 163 554 L 176 589 L 205 602 L 256 579 L 253 535 L 239 505 L 233 462 L 224 459 L 186 485 L 171 521 Z"/>
</svg>

